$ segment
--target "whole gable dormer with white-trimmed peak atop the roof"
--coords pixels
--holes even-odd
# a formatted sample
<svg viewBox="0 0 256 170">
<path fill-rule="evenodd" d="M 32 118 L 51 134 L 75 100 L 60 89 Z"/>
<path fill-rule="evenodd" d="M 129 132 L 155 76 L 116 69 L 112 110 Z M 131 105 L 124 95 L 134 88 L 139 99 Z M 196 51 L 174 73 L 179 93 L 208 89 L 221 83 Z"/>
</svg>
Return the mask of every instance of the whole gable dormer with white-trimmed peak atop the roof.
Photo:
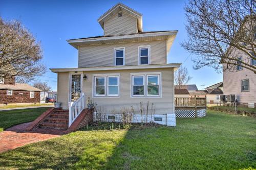
<svg viewBox="0 0 256 170">
<path fill-rule="evenodd" d="M 120 3 L 101 15 L 98 22 L 104 36 L 142 32 L 142 14 Z"/>
</svg>

